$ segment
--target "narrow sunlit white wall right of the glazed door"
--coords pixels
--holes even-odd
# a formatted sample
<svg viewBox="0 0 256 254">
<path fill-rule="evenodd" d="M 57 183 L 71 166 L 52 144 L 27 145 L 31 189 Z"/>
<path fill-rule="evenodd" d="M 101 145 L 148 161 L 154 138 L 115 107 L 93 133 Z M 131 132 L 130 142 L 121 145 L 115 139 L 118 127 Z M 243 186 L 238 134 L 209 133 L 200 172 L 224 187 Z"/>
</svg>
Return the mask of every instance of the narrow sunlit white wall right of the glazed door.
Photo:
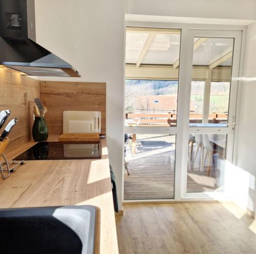
<svg viewBox="0 0 256 254">
<path fill-rule="evenodd" d="M 256 212 L 256 22 L 247 30 L 237 159 L 245 182 L 238 183 L 234 197 L 240 194 L 247 208 Z"/>
</svg>

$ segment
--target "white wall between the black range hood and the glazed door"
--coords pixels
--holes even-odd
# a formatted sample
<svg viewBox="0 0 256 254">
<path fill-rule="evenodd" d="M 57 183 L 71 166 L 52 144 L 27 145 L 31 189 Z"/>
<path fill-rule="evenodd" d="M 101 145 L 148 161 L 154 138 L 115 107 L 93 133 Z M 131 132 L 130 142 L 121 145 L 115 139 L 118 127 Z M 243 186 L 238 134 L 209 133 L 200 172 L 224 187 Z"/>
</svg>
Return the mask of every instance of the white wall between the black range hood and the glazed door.
<svg viewBox="0 0 256 254">
<path fill-rule="evenodd" d="M 122 201 L 124 0 L 35 0 L 37 42 L 71 63 L 82 78 L 106 82 L 106 134 Z"/>
</svg>

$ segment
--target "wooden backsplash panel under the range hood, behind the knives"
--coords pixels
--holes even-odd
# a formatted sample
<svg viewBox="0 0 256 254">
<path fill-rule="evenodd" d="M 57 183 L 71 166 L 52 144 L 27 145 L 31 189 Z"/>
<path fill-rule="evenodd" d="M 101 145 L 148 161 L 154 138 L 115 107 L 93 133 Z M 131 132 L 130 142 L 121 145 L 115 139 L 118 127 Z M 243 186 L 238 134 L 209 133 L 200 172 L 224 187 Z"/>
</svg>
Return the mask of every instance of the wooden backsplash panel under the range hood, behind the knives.
<svg viewBox="0 0 256 254">
<path fill-rule="evenodd" d="M 0 111 L 9 109 L 12 112 L 6 124 L 14 117 L 18 119 L 17 125 L 8 136 L 10 139 L 6 149 L 8 153 L 31 140 L 34 98 L 40 96 L 40 87 L 38 80 L 20 75 L 19 72 L 9 68 L 0 67 L 0 88 Z"/>
</svg>

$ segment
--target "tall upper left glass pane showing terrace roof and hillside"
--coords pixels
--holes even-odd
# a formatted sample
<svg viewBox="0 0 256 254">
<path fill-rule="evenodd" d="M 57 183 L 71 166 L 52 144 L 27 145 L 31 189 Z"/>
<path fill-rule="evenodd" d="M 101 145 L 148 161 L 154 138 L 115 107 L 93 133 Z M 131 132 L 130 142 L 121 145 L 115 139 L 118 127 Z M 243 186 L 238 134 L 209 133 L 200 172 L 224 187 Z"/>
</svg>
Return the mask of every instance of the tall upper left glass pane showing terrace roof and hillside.
<svg viewBox="0 0 256 254">
<path fill-rule="evenodd" d="M 180 33 L 126 29 L 125 126 L 176 126 Z"/>
</svg>

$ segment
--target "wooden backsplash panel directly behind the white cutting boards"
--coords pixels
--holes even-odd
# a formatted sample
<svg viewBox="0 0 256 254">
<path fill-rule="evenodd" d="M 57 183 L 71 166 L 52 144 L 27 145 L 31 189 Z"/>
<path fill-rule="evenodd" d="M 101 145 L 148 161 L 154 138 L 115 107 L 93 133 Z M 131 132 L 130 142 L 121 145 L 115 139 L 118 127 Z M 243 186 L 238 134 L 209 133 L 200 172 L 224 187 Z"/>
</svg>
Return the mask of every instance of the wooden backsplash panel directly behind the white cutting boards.
<svg viewBox="0 0 256 254">
<path fill-rule="evenodd" d="M 106 131 L 106 84 L 88 82 L 40 82 L 40 98 L 48 108 L 49 134 L 62 134 L 63 111 L 100 111 L 101 133 Z"/>
</svg>

